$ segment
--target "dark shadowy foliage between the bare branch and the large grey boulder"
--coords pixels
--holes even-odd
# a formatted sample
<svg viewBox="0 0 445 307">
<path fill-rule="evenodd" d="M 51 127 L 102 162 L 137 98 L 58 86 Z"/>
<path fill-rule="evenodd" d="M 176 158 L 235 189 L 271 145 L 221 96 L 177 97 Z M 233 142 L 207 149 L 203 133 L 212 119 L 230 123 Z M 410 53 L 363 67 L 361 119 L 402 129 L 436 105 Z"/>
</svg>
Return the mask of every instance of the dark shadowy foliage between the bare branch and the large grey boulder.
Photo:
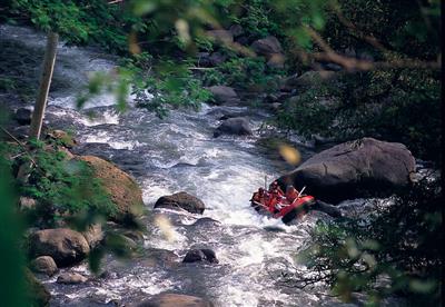
<svg viewBox="0 0 445 307">
<path fill-rule="evenodd" d="M 278 113 L 281 127 L 337 141 L 374 137 L 405 143 L 416 157 L 441 159 L 441 81 L 425 70 L 343 73 L 301 89 Z"/>
</svg>

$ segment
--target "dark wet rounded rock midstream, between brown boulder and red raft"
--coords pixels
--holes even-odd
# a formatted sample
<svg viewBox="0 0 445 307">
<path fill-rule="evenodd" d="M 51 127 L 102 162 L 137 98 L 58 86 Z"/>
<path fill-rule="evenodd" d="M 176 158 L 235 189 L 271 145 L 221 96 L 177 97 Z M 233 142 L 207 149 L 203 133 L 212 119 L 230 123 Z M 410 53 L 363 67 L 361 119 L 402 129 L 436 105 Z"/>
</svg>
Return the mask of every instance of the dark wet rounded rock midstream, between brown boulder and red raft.
<svg viewBox="0 0 445 307">
<path fill-rule="evenodd" d="M 188 192 L 180 191 L 174 195 L 162 196 L 156 201 L 155 208 L 184 209 L 191 214 L 201 215 L 206 209 L 206 205 L 199 198 Z"/>
</svg>

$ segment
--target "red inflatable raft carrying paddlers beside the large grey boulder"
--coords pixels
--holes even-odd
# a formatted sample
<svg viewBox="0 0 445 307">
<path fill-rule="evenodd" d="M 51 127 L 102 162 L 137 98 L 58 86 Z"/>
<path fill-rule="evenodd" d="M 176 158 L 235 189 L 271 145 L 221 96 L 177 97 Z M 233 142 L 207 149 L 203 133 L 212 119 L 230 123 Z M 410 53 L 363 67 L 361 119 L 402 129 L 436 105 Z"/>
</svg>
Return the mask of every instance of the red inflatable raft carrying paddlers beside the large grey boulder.
<svg viewBox="0 0 445 307">
<path fill-rule="evenodd" d="M 277 186 L 271 187 L 268 191 L 259 188 L 254 192 L 250 204 L 257 211 L 267 211 L 274 218 L 281 218 L 283 222 L 288 224 L 296 217 L 306 214 L 312 205 L 315 204 L 315 198 L 310 195 L 296 192 L 291 187 L 284 194 Z"/>
</svg>

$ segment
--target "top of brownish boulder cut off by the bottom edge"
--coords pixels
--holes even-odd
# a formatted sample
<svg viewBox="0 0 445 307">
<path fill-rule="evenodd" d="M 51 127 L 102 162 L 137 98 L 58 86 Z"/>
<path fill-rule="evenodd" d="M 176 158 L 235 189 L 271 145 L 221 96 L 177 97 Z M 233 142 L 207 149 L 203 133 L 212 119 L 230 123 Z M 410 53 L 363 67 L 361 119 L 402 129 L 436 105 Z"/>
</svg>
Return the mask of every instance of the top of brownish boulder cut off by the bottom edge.
<svg viewBox="0 0 445 307">
<path fill-rule="evenodd" d="M 190 295 L 162 293 L 134 304 L 134 307 L 212 307 L 210 301 Z"/>
</svg>

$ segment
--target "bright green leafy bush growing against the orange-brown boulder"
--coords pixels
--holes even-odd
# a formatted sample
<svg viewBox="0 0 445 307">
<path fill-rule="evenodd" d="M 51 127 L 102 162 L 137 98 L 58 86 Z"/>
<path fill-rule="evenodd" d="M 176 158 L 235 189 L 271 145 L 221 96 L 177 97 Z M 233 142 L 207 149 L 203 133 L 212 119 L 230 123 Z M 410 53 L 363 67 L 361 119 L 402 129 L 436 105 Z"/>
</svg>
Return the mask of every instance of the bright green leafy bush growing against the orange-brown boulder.
<svg viewBox="0 0 445 307">
<path fill-rule="evenodd" d="M 28 180 L 16 181 L 20 195 L 37 202 L 33 208 L 23 208 L 30 226 L 55 227 L 80 214 L 111 217 L 116 212 L 92 169 L 83 161 L 67 159 L 59 143 L 34 141 L 31 150 L 0 145 L 2 157 L 18 157 L 9 161 L 10 174 L 22 164 L 33 164 Z"/>
</svg>

